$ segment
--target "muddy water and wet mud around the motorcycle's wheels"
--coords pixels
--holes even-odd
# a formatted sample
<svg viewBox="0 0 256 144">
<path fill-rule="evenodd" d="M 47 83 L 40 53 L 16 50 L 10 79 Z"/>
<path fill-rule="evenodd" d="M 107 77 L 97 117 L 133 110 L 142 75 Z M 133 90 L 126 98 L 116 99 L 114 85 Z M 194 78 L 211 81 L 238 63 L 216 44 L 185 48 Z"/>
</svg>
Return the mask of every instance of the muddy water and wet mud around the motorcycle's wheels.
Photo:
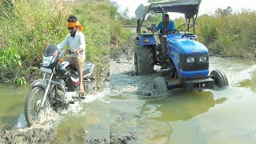
<svg viewBox="0 0 256 144">
<path fill-rule="evenodd" d="M 30 86 L 0 85 L 0 143 L 109 142 L 109 90 L 88 95 L 68 110 L 49 110 L 46 122 L 28 128 L 24 105 L 29 90 Z"/>
</svg>

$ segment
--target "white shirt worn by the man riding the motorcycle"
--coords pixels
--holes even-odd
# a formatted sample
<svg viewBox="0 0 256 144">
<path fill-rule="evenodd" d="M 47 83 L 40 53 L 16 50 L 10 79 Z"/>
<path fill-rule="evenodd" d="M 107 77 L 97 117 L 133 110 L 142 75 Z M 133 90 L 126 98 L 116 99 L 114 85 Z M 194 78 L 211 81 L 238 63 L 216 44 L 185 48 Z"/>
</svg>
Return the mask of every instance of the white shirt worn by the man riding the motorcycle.
<svg viewBox="0 0 256 144">
<path fill-rule="evenodd" d="M 78 55 L 81 55 L 83 58 L 86 58 L 86 40 L 85 35 L 82 34 L 81 31 L 77 30 L 74 35 L 74 38 L 71 37 L 70 34 L 66 35 L 66 38 L 62 41 L 62 43 L 58 44 L 58 50 L 62 50 L 65 46 L 70 45 L 70 50 L 82 48 L 82 52 Z"/>
</svg>

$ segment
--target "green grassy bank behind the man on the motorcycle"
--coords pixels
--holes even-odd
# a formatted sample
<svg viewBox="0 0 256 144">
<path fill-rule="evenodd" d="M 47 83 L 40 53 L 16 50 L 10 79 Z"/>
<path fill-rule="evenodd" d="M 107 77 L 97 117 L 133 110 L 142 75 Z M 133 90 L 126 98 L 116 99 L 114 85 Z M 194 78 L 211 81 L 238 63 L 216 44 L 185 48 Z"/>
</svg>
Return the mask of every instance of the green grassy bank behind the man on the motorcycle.
<svg viewBox="0 0 256 144">
<path fill-rule="evenodd" d="M 97 82 L 108 73 L 110 50 L 109 4 L 107 2 L 0 2 L 0 82 L 22 84 L 40 77 L 47 43 L 58 44 L 68 34 L 66 19 L 78 17 L 84 26 L 87 61 L 96 64 Z"/>
</svg>

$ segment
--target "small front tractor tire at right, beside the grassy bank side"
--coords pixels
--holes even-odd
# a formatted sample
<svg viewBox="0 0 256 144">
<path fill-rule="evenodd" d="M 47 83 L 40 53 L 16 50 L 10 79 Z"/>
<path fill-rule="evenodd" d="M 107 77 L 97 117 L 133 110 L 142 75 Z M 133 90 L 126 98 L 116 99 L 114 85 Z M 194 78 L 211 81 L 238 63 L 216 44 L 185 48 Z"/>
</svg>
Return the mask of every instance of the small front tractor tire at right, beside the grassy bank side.
<svg viewBox="0 0 256 144">
<path fill-rule="evenodd" d="M 229 86 L 226 75 L 222 72 L 222 70 L 212 70 L 210 72 L 210 78 L 214 79 L 214 85 L 218 86 L 219 88 Z"/>
</svg>

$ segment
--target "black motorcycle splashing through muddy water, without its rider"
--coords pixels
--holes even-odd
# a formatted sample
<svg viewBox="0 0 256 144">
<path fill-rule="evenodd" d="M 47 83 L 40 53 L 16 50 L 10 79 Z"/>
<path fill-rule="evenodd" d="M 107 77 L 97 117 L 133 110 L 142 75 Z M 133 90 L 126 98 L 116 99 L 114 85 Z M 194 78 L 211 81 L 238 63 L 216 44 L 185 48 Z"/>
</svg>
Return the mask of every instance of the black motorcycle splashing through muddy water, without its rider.
<svg viewBox="0 0 256 144">
<path fill-rule="evenodd" d="M 53 110 L 57 110 L 58 107 L 67 109 L 69 104 L 85 98 L 78 93 L 78 71 L 69 62 L 63 61 L 64 54 L 71 54 L 71 51 L 58 51 L 55 45 L 46 47 L 40 68 L 43 73 L 42 79 L 31 83 L 32 88 L 26 96 L 25 117 L 28 126 L 39 123 L 40 115 L 48 107 Z M 76 55 L 71 54 L 71 57 Z M 86 62 L 83 70 L 85 94 L 91 94 L 94 90 L 93 71 L 94 64 Z"/>
</svg>

